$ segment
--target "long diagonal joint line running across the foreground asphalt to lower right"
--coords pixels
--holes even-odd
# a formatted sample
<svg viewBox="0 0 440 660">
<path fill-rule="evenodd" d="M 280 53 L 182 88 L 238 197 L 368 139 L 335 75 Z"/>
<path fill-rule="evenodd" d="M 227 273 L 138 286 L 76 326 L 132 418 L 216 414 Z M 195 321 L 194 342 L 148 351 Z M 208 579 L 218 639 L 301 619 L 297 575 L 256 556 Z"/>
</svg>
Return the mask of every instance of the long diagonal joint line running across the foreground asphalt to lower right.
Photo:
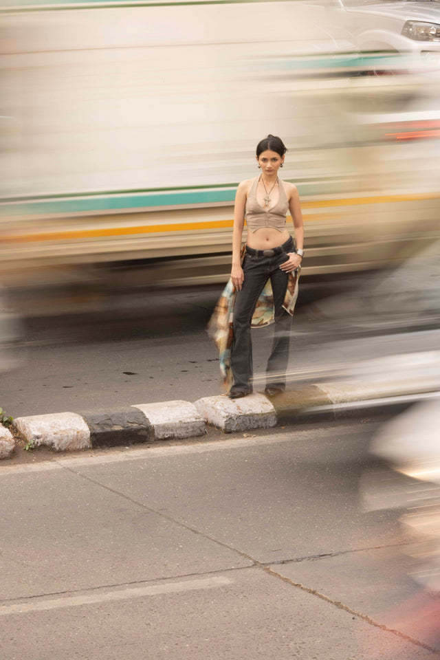
<svg viewBox="0 0 440 660">
<path fill-rule="evenodd" d="M 61 465 L 61 463 L 59 463 Z M 146 505 L 142 504 L 142 502 L 138 502 L 137 500 L 129 497 L 128 495 L 120 492 L 119 490 L 115 490 L 114 488 L 111 488 L 109 486 L 106 486 L 99 481 L 96 481 L 95 479 L 86 476 L 85 474 L 81 474 L 81 472 L 77 472 L 74 470 L 72 467 L 66 467 L 65 465 L 62 465 L 64 470 L 67 470 L 68 472 L 72 472 L 73 474 L 76 474 L 76 476 L 79 476 L 80 478 L 86 479 L 87 481 L 90 481 L 91 483 L 94 483 L 95 485 L 104 488 L 108 490 L 109 492 L 124 498 L 125 500 L 131 502 L 132 504 L 136 505 L 137 507 L 141 507 L 142 509 L 149 511 L 152 514 L 156 514 L 157 516 L 160 516 L 161 518 L 164 518 L 165 520 L 168 520 L 169 522 L 173 522 L 175 525 L 179 525 L 179 527 L 183 527 L 184 529 L 196 534 L 197 536 L 201 536 L 203 538 L 206 538 L 206 540 L 211 541 L 212 543 L 215 543 L 225 549 L 228 549 L 238 555 L 240 555 L 242 558 L 247 559 L 249 562 L 251 562 L 252 566 L 254 566 L 257 569 L 260 569 L 267 575 L 270 575 L 271 577 L 276 577 L 278 580 L 281 580 L 282 582 L 285 582 L 285 584 L 289 584 L 290 586 L 294 586 L 295 588 L 300 589 L 301 591 L 305 591 L 305 593 L 309 593 L 310 595 L 316 596 L 320 598 L 321 600 L 325 601 L 326 603 L 329 603 L 333 605 L 334 607 L 337 607 L 340 610 L 343 610 L 344 612 L 347 612 L 355 617 L 358 617 L 359 619 L 362 619 L 362 621 L 365 621 L 367 624 L 370 626 L 374 626 L 375 628 L 379 628 L 380 630 L 383 630 L 384 632 L 389 632 L 391 635 L 395 635 L 396 637 L 399 637 L 399 639 L 402 639 L 404 641 L 408 641 L 414 646 L 419 646 L 421 648 L 424 648 L 431 653 L 438 655 L 440 657 L 440 651 L 432 648 L 432 646 L 429 646 L 428 644 L 424 643 L 423 641 L 419 641 L 419 639 L 415 639 L 414 637 L 410 637 L 409 635 L 405 635 L 404 632 L 400 632 L 399 630 L 395 630 L 394 628 L 389 628 L 388 626 L 385 626 L 384 624 L 380 624 L 378 621 L 375 621 L 371 617 L 362 614 L 361 612 L 358 612 L 357 610 L 354 610 L 353 608 L 349 607 L 348 605 L 344 605 L 344 603 L 341 603 L 340 601 L 334 600 L 330 598 L 329 596 L 326 596 L 324 593 L 321 593 L 317 589 L 313 589 L 309 586 L 305 586 L 304 584 L 300 584 L 300 582 L 294 582 L 294 580 L 291 580 L 289 577 L 285 577 L 285 575 L 281 575 L 281 573 L 277 573 L 277 571 L 274 571 L 270 566 L 274 566 L 274 562 L 271 562 L 271 564 L 265 564 L 263 562 L 259 562 L 259 560 L 256 560 L 254 557 L 251 555 L 248 555 L 247 553 L 238 550 L 227 543 L 224 543 L 223 541 L 218 540 L 217 538 L 214 538 L 210 536 L 209 534 L 199 531 L 199 529 L 195 529 L 195 527 L 191 527 L 190 525 L 187 525 L 186 522 L 181 522 L 180 520 L 176 520 L 172 516 L 168 516 L 167 514 L 164 514 L 162 511 L 156 511 L 155 509 L 152 509 L 151 507 L 147 507 Z M 281 563 L 281 562 L 278 562 Z M 249 567 L 252 567 L 249 566 Z"/>
</svg>

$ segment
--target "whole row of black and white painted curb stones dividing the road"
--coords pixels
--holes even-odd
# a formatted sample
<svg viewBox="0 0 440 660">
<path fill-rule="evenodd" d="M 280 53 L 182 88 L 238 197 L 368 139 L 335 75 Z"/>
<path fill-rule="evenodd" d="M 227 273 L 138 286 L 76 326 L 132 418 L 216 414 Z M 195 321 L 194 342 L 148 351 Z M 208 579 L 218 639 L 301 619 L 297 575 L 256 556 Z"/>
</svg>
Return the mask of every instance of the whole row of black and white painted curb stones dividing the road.
<svg viewBox="0 0 440 660">
<path fill-rule="evenodd" d="M 314 415 L 330 419 L 347 417 L 353 410 L 388 405 L 408 405 L 413 401 L 438 396 L 432 387 L 419 384 L 408 395 L 408 386 L 387 387 L 377 383 L 353 381 L 304 384 L 268 399 L 254 393 L 242 399 L 225 395 L 190 401 L 162 401 L 133 404 L 115 410 L 56 412 L 49 415 L 18 417 L 12 431 L 34 447 L 46 445 L 56 452 L 149 443 L 165 439 L 200 437 L 206 424 L 225 433 L 255 428 L 271 428 L 278 423 L 304 421 Z M 0 459 L 14 451 L 11 432 L 0 426 Z"/>
</svg>

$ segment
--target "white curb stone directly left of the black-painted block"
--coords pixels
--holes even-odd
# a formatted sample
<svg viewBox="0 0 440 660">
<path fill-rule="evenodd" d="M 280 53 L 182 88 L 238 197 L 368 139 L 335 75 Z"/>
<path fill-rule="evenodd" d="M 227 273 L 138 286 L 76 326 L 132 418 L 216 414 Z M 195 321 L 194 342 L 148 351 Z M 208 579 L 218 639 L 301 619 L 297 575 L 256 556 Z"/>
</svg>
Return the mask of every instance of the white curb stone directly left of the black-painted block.
<svg viewBox="0 0 440 660">
<path fill-rule="evenodd" d="M 89 427 L 76 412 L 18 417 L 14 424 L 23 438 L 36 447 L 48 445 L 56 452 L 64 452 L 91 446 Z"/>
</svg>

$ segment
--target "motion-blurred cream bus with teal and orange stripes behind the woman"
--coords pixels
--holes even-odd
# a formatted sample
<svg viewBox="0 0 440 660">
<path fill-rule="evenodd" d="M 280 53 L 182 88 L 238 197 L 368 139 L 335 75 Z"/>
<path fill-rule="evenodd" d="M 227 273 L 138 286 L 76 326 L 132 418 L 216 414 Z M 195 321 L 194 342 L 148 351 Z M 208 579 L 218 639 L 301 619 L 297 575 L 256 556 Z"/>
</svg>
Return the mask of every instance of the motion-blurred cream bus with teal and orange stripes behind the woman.
<svg viewBox="0 0 440 660">
<path fill-rule="evenodd" d="M 357 52 L 313 2 L 2 12 L 6 287 L 222 283 L 267 133 L 300 190 L 304 276 L 401 263 L 438 231 L 436 63 Z"/>
</svg>

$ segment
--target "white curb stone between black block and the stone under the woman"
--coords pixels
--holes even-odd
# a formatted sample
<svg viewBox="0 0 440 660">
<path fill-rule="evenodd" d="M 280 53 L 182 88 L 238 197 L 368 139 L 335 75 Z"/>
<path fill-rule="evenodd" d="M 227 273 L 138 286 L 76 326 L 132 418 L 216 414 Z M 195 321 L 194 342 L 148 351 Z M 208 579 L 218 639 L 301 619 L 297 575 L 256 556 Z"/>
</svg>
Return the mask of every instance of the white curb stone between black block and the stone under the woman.
<svg viewBox="0 0 440 660">
<path fill-rule="evenodd" d="M 153 426 L 155 440 L 190 438 L 205 432 L 205 420 L 189 401 L 162 401 L 132 407 L 142 410 Z"/>
</svg>

